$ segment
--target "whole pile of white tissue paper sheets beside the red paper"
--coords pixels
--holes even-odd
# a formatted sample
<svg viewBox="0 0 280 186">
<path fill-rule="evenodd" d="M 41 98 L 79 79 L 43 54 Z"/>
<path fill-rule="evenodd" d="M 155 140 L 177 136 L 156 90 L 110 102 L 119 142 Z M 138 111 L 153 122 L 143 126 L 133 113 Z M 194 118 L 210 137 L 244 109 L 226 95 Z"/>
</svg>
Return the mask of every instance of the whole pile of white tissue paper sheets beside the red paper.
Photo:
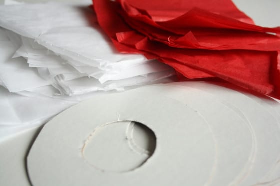
<svg viewBox="0 0 280 186">
<path fill-rule="evenodd" d="M 0 85 L 11 93 L 3 90 L 10 101 L 0 109 L 5 118 L 14 118 L 5 107 L 17 113 L 20 99 L 30 99 L 24 104 L 37 112 L 23 109 L 17 120 L 1 119 L 0 138 L 12 134 L 4 132 L 7 124 L 13 129 L 43 124 L 97 91 L 172 81 L 175 73 L 167 65 L 115 51 L 90 1 L 8 4 L 0 6 Z M 42 100 L 48 101 L 38 104 Z"/>
</svg>

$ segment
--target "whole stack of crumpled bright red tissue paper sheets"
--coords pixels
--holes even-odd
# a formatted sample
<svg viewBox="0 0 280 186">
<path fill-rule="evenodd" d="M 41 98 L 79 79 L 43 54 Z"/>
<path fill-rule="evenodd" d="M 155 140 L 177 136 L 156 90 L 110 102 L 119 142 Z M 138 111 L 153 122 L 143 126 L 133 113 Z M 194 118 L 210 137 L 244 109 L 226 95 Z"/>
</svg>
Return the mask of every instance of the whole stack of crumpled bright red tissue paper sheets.
<svg viewBox="0 0 280 186">
<path fill-rule="evenodd" d="M 257 26 L 231 0 L 93 0 L 122 53 L 170 65 L 179 77 L 217 77 L 280 97 L 280 28 Z"/>
</svg>

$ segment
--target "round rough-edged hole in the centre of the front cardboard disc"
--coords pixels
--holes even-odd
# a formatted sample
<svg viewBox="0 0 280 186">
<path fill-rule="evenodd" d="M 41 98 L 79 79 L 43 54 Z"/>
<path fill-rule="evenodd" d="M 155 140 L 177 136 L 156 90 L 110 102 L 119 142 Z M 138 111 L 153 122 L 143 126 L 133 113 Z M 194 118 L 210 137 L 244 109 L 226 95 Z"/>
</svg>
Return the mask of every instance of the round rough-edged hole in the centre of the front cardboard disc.
<svg viewBox="0 0 280 186">
<path fill-rule="evenodd" d="M 156 147 L 154 132 L 134 121 L 96 128 L 82 149 L 86 162 L 102 171 L 126 172 L 143 165 Z"/>
</svg>

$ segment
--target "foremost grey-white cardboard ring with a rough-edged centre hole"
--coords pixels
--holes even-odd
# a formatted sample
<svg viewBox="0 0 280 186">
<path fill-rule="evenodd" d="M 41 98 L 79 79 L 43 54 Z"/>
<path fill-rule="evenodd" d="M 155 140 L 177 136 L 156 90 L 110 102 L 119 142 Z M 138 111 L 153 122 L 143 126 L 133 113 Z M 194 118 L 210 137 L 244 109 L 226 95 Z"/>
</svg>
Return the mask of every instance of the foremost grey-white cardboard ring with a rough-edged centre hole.
<svg viewBox="0 0 280 186">
<path fill-rule="evenodd" d="M 88 164 L 81 148 L 90 134 L 100 125 L 127 120 L 155 133 L 156 149 L 147 162 L 125 173 Z M 34 186 L 200 186 L 213 170 L 212 135 L 197 112 L 165 96 L 140 89 L 96 96 L 45 125 L 27 157 L 28 173 Z"/>
</svg>

